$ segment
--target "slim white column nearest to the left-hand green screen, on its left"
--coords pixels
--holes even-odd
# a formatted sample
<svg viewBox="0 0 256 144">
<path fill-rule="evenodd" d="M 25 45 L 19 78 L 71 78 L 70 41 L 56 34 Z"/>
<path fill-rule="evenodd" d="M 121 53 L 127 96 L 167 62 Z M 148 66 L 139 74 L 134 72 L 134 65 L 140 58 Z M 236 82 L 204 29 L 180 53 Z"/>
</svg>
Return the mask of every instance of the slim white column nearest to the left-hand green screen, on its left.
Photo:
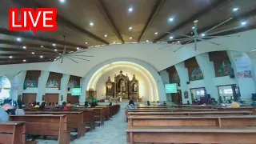
<svg viewBox="0 0 256 144">
<path fill-rule="evenodd" d="M 67 100 L 67 84 L 69 83 L 70 75 L 69 74 L 62 74 L 61 79 L 61 90 L 58 94 L 58 104 L 62 105 L 62 102 L 66 102 Z M 63 96 L 63 99 L 62 99 Z"/>
</svg>

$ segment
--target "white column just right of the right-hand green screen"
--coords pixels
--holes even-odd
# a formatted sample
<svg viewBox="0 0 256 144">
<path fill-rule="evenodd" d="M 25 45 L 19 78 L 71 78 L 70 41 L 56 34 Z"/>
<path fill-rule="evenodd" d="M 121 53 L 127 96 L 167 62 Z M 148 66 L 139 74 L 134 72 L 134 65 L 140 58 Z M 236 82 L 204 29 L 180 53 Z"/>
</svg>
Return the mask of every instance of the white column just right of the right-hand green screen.
<svg viewBox="0 0 256 144">
<path fill-rule="evenodd" d="M 178 64 L 175 65 L 175 69 L 178 72 L 178 76 L 180 78 L 180 82 L 181 82 L 181 89 L 182 89 L 182 103 L 186 104 L 187 101 L 189 101 L 190 103 L 192 103 L 192 99 L 191 99 L 191 93 L 190 93 L 190 88 L 189 86 L 186 84 L 186 82 L 189 82 L 189 74 L 188 74 L 188 70 L 185 67 L 185 63 L 184 62 L 180 62 Z M 184 97 L 184 92 L 187 91 L 188 92 L 188 98 Z"/>
</svg>

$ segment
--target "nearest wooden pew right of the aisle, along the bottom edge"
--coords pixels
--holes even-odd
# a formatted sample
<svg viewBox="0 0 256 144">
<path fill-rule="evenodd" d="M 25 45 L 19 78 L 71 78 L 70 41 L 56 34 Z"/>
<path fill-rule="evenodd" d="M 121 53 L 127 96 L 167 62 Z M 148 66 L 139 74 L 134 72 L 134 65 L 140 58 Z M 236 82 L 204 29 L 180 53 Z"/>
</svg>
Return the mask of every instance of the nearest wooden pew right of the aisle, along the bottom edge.
<svg viewBox="0 0 256 144">
<path fill-rule="evenodd" d="M 255 144 L 256 127 L 248 126 L 128 126 L 126 139 L 134 143 Z"/>
</svg>

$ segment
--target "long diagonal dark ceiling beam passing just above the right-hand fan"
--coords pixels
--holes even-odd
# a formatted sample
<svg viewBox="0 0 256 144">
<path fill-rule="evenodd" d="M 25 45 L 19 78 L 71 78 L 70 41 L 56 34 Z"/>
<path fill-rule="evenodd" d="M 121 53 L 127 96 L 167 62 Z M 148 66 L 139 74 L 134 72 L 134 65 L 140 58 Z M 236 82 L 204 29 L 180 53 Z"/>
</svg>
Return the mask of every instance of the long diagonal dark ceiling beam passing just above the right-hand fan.
<svg viewBox="0 0 256 144">
<path fill-rule="evenodd" d="M 186 19 L 184 22 L 179 24 L 178 26 L 175 26 L 174 29 L 169 30 L 169 32 L 174 33 L 177 30 L 182 29 L 183 27 L 192 24 L 194 20 L 200 19 L 208 14 L 210 14 L 211 11 L 218 9 L 221 6 L 224 6 L 227 2 L 231 2 L 233 0 L 218 0 L 217 2 L 214 2 L 212 5 L 207 6 L 204 10 L 199 11 L 197 14 L 192 15 L 189 19 Z M 158 42 L 162 38 L 165 38 L 168 34 L 162 34 L 160 37 L 155 38 L 153 42 Z"/>
</svg>

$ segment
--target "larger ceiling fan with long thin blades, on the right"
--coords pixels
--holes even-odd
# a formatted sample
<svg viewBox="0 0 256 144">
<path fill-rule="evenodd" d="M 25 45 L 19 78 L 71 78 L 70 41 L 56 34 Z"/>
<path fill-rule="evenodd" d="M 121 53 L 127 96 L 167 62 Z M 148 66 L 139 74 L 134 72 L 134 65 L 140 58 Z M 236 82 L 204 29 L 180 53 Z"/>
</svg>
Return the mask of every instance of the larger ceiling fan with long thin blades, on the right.
<svg viewBox="0 0 256 144">
<path fill-rule="evenodd" d="M 193 27 L 193 32 L 191 32 L 191 34 L 193 34 L 192 36 L 190 35 L 185 35 L 185 34 L 178 34 L 178 33 L 171 33 L 171 32 L 166 32 L 168 34 L 173 34 L 173 35 L 179 35 L 179 36 L 182 36 L 182 37 L 186 37 L 186 38 L 178 38 L 178 39 L 170 39 L 168 41 L 172 41 L 172 40 L 177 40 L 179 41 L 180 43 L 184 43 L 186 42 L 184 45 L 178 47 L 178 49 L 174 50 L 174 52 L 176 52 L 177 50 L 180 50 L 183 46 L 186 46 L 187 44 L 189 44 L 190 42 L 193 42 L 194 41 L 194 50 L 197 50 L 197 42 L 198 41 L 202 41 L 202 42 L 208 42 L 208 43 L 211 43 L 213 45 L 216 45 L 216 46 L 219 46 L 220 44 L 219 43 L 216 43 L 216 42 L 210 42 L 209 38 L 221 38 L 221 37 L 240 37 L 240 35 L 221 35 L 221 36 L 214 36 L 216 34 L 221 34 L 221 33 L 224 33 L 224 32 L 228 32 L 230 30 L 236 30 L 236 29 L 239 29 L 243 26 L 237 26 L 237 27 L 233 27 L 233 28 L 230 28 L 230 29 L 226 29 L 226 30 L 220 30 L 220 31 L 217 31 L 217 32 L 214 32 L 214 33 L 210 33 L 211 30 L 214 30 L 216 29 L 218 26 L 222 26 L 223 24 L 225 24 L 226 22 L 230 22 L 230 20 L 232 20 L 233 18 L 228 18 L 226 19 L 226 21 L 223 21 L 221 23 L 219 23 L 218 25 L 216 26 L 213 26 L 212 28 L 210 28 L 209 30 L 206 30 L 204 32 L 202 32 L 201 34 L 198 34 L 198 20 L 195 20 L 194 21 L 194 27 Z M 246 23 L 245 23 L 246 24 Z M 165 49 L 167 47 L 170 47 L 170 46 L 165 46 L 165 47 L 162 47 L 160 48 L 159 50 L 162 50 L 162 49 Z"/>
</svg>

